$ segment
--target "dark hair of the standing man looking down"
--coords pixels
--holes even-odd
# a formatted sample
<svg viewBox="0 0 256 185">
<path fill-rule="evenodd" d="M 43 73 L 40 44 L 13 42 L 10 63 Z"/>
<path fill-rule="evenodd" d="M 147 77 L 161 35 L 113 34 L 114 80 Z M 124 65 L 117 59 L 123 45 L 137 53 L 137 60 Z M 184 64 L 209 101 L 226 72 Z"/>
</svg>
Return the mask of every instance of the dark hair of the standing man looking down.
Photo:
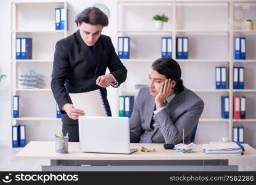
<svg viewBox="0 0 256 185">
<path fill-rule="evenodd" d="M 107 15 L 97 7 L 88 7 L 77 14 L 75 17 L 76 25 L 78 25 L 78 23 L 81 25 L 82 22 L 90 25 L 102 25 L 102 27 L 107 27 L 107 25 L 109 25 Z"/>
</svg>

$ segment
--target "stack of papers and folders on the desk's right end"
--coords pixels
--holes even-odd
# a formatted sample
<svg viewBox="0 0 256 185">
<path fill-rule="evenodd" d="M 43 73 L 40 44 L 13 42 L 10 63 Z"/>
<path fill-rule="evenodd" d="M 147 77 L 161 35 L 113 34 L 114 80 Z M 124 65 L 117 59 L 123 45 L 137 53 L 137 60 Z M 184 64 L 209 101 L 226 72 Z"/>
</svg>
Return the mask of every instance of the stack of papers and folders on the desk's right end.
<svg viewBox="0 0 256 185">
<path fill-rule="evenodd" d="M 222 142 L 204 144 L 204 153 L 207 155 L 243 155 L 244 146 L 239 142 Z"/>
</svg>

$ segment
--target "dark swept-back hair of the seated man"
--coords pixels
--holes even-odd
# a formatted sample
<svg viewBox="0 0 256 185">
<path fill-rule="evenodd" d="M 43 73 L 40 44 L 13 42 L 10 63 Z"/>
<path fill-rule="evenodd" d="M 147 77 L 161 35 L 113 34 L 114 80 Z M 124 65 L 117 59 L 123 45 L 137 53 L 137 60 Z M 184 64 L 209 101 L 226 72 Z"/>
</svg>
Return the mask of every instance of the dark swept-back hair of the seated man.
<svg viewBox="0 0 256 185">
<path fill-rule="evenodd" d="M 181 80 L 181 68 L 178 62 L 173 59 L 161 58 L 155 60 L 152 64 L 153 70 L 156 70 L 161 75 L 165 75 L 167 79 L 176 81 L 173 88 L 174 92 L 182 92 L 184 90 L 183 80 Z"/>
</svg>

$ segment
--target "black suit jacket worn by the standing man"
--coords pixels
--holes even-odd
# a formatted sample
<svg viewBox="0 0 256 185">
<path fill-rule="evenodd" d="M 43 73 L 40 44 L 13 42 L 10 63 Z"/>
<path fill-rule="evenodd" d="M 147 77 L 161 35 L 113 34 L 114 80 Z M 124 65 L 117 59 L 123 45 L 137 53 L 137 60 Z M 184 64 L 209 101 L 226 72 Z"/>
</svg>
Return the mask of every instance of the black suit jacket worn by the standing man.
<svg viewBox="0 0 256 185">
<path fill-rule="evenodd" d="M 89 46 L 81 38 L 79 30 L 56 43 L 54 64 L 52 69 L 51 89 L 59 109 L 70 103 L 68 93 L 88 92 L 101 89 L 102 96 L 111 115 L 107 90 L 97 86 L 98 76 L 105 75 L 107 67 L 120 85 L 126 80 L 127 70 L 115 53 L 109 36 L 101 35 L 95 43 L 96 65 Z M 68 118 L 65 111 L 62 121 L 66 124 L 77 124 L 77 120 Z"/>
</svg>

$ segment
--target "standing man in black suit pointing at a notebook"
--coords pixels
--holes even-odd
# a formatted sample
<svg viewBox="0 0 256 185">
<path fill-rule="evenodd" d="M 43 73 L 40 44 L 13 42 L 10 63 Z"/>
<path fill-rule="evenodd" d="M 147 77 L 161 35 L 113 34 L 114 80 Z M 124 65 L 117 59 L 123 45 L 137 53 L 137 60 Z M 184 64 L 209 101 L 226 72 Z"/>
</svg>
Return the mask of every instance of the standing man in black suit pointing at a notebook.
<svg viewBox="0 0 256 185">
<path fill-rule="evenodd" d="M 78 117 L 86 115 L 75 109 L 68 93 L 101 90 L 108 116 L 107 88 L 117 88 L 126 80 L 127 70 L 115 53 L 109 36 L 101 35 L 109 24 L 107 15 L 96 7 L 76 15 L 78 31 L 56 43 L 51 89 L 62 113 L 62 132 L 69 141 L 79 141 Z M 106 69 L 110 73 L 105 75 Z"/>
</svg>

